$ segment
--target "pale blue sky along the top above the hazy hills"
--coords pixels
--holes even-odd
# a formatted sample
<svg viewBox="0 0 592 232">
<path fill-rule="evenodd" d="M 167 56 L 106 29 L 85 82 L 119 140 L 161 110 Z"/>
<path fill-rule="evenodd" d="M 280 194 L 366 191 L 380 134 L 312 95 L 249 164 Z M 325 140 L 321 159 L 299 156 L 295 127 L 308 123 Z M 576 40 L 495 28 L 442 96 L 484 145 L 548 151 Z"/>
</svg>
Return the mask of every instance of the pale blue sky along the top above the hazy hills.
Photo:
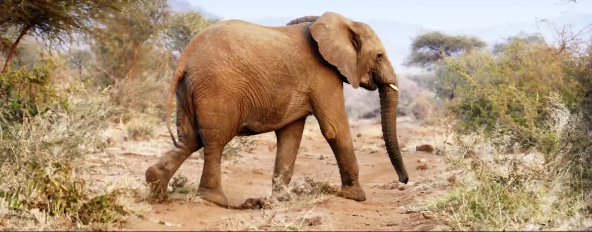
<svg viewBox="0 0 592 232">
<path fill-rule="evenodd" d="M 504 22 L 534 22 L 535 17 L 592 14 L 592 1 L 565 0 L 186 0 L 220 17 L 243 20 L 301 17 L 339 12 L 352 20 L 393 20 L 439 30 L 484 28 Z M 362 4 L 364 2 L 364 4 Z"/>
</svg>

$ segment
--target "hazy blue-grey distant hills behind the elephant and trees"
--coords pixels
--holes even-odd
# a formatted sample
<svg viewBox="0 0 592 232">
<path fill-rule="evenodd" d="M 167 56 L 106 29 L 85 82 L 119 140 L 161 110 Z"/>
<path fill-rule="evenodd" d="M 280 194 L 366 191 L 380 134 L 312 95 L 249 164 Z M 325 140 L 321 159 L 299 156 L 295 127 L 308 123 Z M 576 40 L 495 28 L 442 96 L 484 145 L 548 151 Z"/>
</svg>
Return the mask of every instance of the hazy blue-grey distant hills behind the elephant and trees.
<svg viewBox="0 0 592 232">
<path fill-rule="evenodd" d="M 211 12 L 207 12 L 204 9 L 193 6 L 183 0 L 169 0 L 169 4 L 173 9 L 194 9 L 200 11 L 208 17 L 215 17 Z M 303 15 L 304 16 L 304 15 Z M 219 17 L 218 17 L 219 18 Z M 285 25 L 294 18 L 282 17 L 282 18 L 253 18 L 247 19 L 247 21 L 254 22 L 262 25 L 279 26 Z M 548 21 L 554 22 L 557 27 L 561 28 L 562 25 L 572 24 L 574 25 L 574 32 L 577 32 L 587 25 L 592 24 L 592 14 L 565 14 L 558 18 L 549 18 Z M 434 30 L 437 28 L 426 28 L 423 25 L 411 24 L 407 22 L 396 22 L 390 20 L 367 20 L 363 21 L 370 25 L 378 36 L 381 38 L 382 43 L 387 49 L 388 56 L 391 58 L 392 65 L 395 70 L 410 71 L 409 68 L 403 66 L 403 62 L 410 51 L 411 39 L 422 31 Z M 545 22 L 539 23 L 540 33 L 545 37 L 545 40 L 550 42 L 554 40 L 553 32 L 549 29 L 548 24 Z M 503 38 L 516 36 L 520 31 L 526 33 L 538 32 L 536 27 L 536 19 L 533 18 L 530 22 L 513 22 L 497 24 L 491 27 L 484 28 L 459 28 L 458 30 L 442 30 L 444 33 L 449 34 L 468 34 L 472 36 L 480 37 L 486 41 L 490 46 L 493 46 L 497 41 L 503 40 Z M 590 34 L 584 35 L 585 39 L 590 39 Z"/>
</svg>

